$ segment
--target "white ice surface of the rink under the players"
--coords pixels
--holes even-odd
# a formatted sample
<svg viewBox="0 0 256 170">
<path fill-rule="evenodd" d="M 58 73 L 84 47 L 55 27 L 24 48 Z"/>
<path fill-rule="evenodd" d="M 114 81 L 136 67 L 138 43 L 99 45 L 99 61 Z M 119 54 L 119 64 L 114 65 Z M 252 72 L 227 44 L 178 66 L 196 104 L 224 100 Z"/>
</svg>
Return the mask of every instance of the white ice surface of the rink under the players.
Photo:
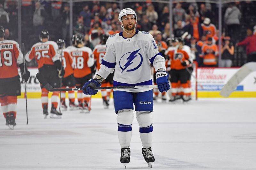
<svg viewBox="0 0 256 170">
<path fill-rule="evenodd" d="M 112 104 L 112 101 L 111 101 Z M 0 113 L 2 110 L 0 109 Z M 90 114 L 63 111 L 44 119 L 40 99 L 18 100 L 17 126 L 0 117 L 0 169 L 124 169 L 120 163 L 113 104 L 92 100 Z M 256 169 L 256 99 L 199 99 L 190 103 L 154 102 L 152 169 Z M 132 125 L 127 169 L 150 169 L 141 153 L 139 127 Z"/>
</svg>

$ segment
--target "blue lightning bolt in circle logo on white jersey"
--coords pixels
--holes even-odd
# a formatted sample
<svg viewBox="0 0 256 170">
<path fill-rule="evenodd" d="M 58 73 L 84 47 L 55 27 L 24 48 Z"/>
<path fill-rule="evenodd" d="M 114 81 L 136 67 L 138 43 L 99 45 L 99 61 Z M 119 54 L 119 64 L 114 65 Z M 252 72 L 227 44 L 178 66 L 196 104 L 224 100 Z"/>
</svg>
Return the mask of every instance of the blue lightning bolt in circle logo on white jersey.
<svg viewBox="0 0 256 170">
<path fill-rule="evenodd" d="M 139 53 L 139 51 L 140 49 L 128 52 L 121 57 L 121 59 L 119 60 L 119 66 L 123 71 L 134 71 L 141 66 L 143 57 Z"/>
</svg>

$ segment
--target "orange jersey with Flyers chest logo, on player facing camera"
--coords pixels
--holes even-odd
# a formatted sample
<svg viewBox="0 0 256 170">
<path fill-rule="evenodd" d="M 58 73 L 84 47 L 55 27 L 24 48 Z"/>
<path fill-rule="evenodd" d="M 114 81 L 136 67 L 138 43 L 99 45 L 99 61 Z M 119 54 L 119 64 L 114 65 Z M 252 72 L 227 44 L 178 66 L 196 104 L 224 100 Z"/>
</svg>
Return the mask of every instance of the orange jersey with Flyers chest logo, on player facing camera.
<svg viewBox="0 0 256 170">
<path fill-rule="evenodd" d="M 175 69 L 175 70 L 185 69 L 185 67 L 181 65 L 181 61 L 185 61 L 189 59 L 187 52 L 178 49 L 177 51 L 169 51 L 167 55 L 169 55 L 171 60 L 171 69 Z"/>
</svg>

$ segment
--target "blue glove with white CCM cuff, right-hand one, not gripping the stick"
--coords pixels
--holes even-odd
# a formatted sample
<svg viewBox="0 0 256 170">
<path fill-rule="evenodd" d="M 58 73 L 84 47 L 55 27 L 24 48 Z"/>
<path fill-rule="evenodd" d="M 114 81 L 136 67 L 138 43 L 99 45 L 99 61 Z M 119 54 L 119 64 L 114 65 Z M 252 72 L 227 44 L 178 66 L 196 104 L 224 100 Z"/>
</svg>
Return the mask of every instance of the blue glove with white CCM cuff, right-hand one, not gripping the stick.
<svg viewBox="0 0 256 170">
<path fill-rule="evenodd" d="M 167 92 L 170 89 L 169 74 L 166 71 L 156 71 L 156 84 L 159 92 Z"/>
</svg>

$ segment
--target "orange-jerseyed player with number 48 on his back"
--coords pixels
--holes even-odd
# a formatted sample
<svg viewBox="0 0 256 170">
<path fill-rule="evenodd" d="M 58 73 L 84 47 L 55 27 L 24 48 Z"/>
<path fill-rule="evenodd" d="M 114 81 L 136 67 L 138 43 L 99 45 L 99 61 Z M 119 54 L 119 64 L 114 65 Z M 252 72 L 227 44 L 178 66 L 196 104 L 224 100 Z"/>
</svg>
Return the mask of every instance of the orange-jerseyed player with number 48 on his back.
<svg viewBox="0 0 256 170">
<path fill-rule="evenodd" d="M 75 38 L 74 48 L 69 49 L 70 55 L 73 58 L 74 77 L 76 80 L 76 87 L 80 88 L 85 82 L 92 78 L 92 70 L 94 70 L 94 59 L 92 57 L 91 48 L 84 47 L 83 37 L 78 35 Z M 91 68 L 93 67 L 93 68 Z M 77 92 L 77 100 L 79 108 L 90 112 L 91 110 L 91 96 L 85 95 L 83 91 Z"/>
</svg>

